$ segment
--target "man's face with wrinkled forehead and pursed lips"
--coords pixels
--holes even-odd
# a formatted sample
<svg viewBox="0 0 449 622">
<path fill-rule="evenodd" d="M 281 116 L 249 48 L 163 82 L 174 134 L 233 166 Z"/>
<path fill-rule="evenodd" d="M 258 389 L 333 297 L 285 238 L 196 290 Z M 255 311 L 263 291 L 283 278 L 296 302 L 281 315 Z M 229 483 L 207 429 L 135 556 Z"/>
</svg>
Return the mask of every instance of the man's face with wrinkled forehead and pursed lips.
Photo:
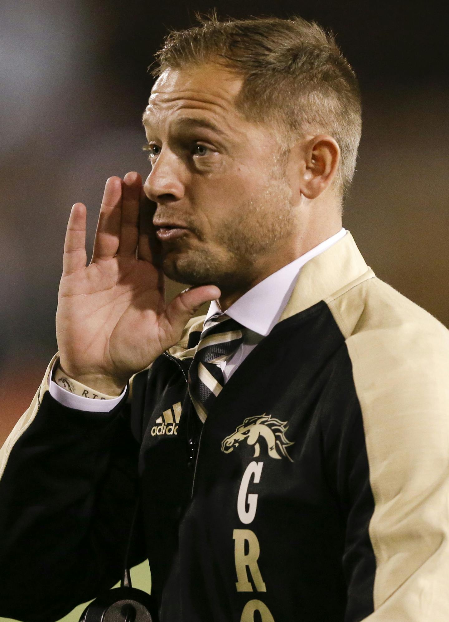
<svg viewBox="0 0 449 622">
<path fill-rule="evenodd" d="M 235 73 L 207 64 L 166 70 L 152 89 L 144 190 L 157 203 L 162 266 L 175 281 L 244 287 L 280 267 L 294 234 L 281 149 L 235 109 L 240 87 Z"/>
</svg>

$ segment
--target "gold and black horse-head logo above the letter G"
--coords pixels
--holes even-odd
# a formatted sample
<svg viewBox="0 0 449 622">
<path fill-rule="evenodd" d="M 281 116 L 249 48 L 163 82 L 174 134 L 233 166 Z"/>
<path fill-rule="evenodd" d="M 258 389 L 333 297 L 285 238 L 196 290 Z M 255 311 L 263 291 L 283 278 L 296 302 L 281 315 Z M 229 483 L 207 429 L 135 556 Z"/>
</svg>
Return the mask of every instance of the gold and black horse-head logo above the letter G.
<svg viewBox="0 0 449 622">
<path fill-rule="evenodd" d="M 277 460 L 284 456 L 293 462 L 287 453 L 287 447 L 294 444 L 285 438 L 288 427 L 286 421 L 280 421 L 271 415 L 263 414 L 248 417 L 233 434 L 229 434 L 223 440 L 221 451 L 224 453 L 232 452 L 234 447 L 238 447 L 239 443 L 246 439 L 248 445 L 254 445 L 254 458 L 257 458 L 261 452 L 259 439 L 262 437 L 266 440 L 269 456 Z"/>
</svg>

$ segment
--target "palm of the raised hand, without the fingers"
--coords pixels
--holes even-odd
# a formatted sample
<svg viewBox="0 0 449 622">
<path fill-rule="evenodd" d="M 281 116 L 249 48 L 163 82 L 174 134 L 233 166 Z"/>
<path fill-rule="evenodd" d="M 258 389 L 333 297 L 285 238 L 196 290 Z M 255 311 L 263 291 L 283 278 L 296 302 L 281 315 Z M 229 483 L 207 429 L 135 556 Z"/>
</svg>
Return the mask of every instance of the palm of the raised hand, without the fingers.
<svg viewBox="0 0 449 622">
<path fill-rule="evenodd" d="M 85 373 L 100 369 L 116 378 L 146 368 L 171 345 L 163 283 L 149 262 L 119 256 L 63 276 L 57 332 L 71 366 L 88 360 Z"/>
</svg>

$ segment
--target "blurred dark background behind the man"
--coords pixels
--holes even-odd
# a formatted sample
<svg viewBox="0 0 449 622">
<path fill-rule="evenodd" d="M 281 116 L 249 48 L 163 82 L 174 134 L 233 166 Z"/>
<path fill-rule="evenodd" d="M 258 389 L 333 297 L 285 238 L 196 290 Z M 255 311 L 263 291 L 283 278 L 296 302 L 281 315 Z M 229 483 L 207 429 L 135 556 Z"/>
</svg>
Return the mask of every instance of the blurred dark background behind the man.
<svg viewBox="0 0 449 622">
<path fill-rule="evenodd" d="M 167 29 L 192 25 L 197 10 L 299 14 L 336 32 L 364 104 L 343 224 L 377 276 L 449 325 L 447 32 L 431 6 L 2 0 L 0 435 L 27 407 L 56 350 L 70 207 L 88 206 L 91 244 L 105 180 L 128 170 L 146 177 L 147 67 Z"/>
</svg>

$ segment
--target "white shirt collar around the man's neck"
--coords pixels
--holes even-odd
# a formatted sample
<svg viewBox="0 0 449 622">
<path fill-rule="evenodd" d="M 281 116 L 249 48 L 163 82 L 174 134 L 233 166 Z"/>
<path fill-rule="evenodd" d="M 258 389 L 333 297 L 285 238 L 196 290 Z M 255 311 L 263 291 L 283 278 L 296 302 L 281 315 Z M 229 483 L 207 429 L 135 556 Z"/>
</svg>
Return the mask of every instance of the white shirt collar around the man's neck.
<svg viewBox="0 0 449 622">
<path fill-rule="evenodd" d="M 295 282 L 302 266 L 323 251 L 333 246 L 346 234 L 346 229 L 341 229 L 335 235 L 310 249 L 299 258 L 273 272 L 266 279 L 254 285 L 246 294 L 243 294 L 226 311 L 226 315 L 239 322 L 249 330 L 266 337 L 278 322 L 285 305 L 289 302 Z M 222 313 L 216 300 L 212 300 L 206 315 L 206 320 L 214 315 Z"/>
</svg>

